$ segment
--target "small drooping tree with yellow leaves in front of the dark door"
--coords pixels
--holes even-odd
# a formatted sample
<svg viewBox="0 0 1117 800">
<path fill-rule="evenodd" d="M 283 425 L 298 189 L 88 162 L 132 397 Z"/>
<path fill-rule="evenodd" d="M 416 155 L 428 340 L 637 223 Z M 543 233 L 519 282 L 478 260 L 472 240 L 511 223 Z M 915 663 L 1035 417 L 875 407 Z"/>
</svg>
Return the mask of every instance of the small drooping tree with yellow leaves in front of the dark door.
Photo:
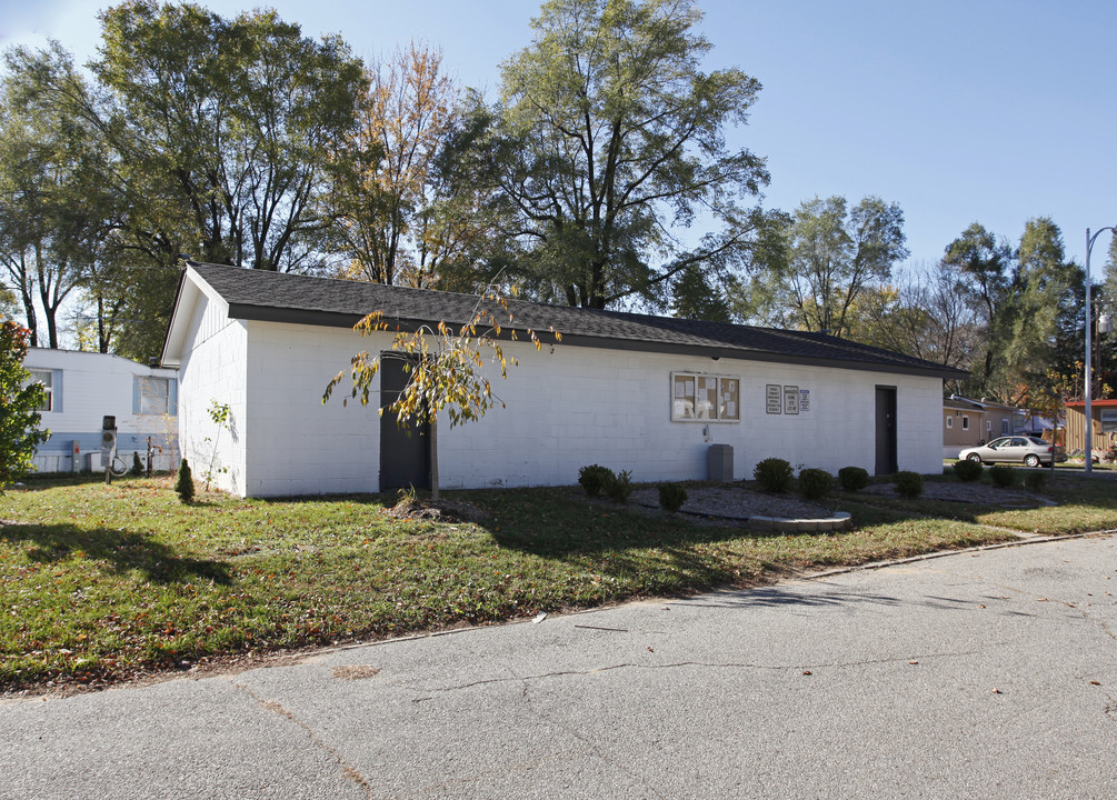
<svg viewBox="0 0 1117 800">
<path fill-rule="evenodd" d="M 493 304 L 490 311 L 487 304 Z M 408 374 L 407 385 L 391 406 L 380 408 L 395 413 L 399 425 L 404 428 L 412 423 L 430 425 L 430 487 L 431 497 L 439 498 L 438 492 L 438 415 L 445 409 L 450 420 L 450 427 L 480 419 L 496 403 L 504 408 L 504 401 L 493 393 L 493 387 L 483 374 L 486 355 L 499 365 L 500 378 L 508 377 L 508 368 L 518 362 L 513 356 L 506 356 L 500 345 L 504 327 L 498 320 L 507 316 L 507 340 L 518 341 L 519 335 L 512 327 L 513 314 L 508 302 L 497 293 L 493 284 L 478 297 L 471 318 L 455 331 L 446 322 L 439 322 L 433 327 L 421 325 L 416 331 L 397 331 L 392 337 L 392 351 L 405 356 L 403 366 Z M 384 322 L 383 312 L 373 312 L 361 320 L 353 330 L 362 336 L 378 332 L 388 332 L 390 326 Z M 550 328 L 555 342 L 562 341 L 562 334 Z M 525 328 L 524 334 L 532 341 L 536 350 L 543 349 L 543 342 L 535 331 Z M 552 344 L 552 350 L 554 345 Z M 350 397 L 343 399 L 360 399 L 362 406 L 369 404 L 369 398 L 379 392 L 375 380 L 381 369 L 380 353 L 365 351 L 357 353 L 347 370 L 353 385 Z M 334 389 L 345 382 L 346 370 L 338 372 L 322 396 L 323 404 L 330 400 Z"/>
</svg>

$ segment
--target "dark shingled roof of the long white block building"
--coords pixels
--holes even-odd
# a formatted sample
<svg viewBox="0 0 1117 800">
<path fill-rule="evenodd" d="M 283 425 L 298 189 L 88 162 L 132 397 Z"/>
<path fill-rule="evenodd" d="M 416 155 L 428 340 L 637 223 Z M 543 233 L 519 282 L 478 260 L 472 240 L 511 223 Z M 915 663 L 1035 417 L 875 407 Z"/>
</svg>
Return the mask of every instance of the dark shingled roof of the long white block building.
<svg viewBox="0 0 1117 800">
<path fill-rule="evenodd" d="M 419 323 L 460 325 L 472 318 L 477 295 L 384 286 L 307 275 L 287 275 L 213 264 L 190 264 L 229 304 L 240 320 L 351 327 L 365 314 L 383 313 L 392 327 L 414 330 Z M 923 359 L 849 342 L 822 333 L 781 331 L 750 325 L 679 320 L 615 311 L 574 308 L 509 301 L 513 322 L 503 309 L 497 321 L 508 328 L 554 328 L 563 344 L 612 350 L 690 353 L 717 358 L 809 363 L 907 374 L 960 378 L 966 373 Z M 484 306 L 483 306 L 484 307 Z M 543 336 L 545 340 L 548 336 Z"/>
</svg>

